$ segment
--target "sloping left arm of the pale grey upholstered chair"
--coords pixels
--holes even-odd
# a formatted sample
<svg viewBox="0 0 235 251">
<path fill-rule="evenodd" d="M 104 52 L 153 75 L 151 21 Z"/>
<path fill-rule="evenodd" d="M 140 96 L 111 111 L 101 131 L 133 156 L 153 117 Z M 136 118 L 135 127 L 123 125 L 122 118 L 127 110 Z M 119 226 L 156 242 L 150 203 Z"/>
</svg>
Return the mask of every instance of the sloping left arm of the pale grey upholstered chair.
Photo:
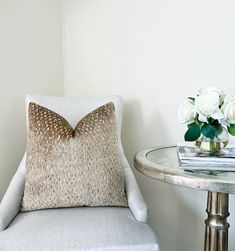
<svg viewBox="0 0 235 251">
<path fill-rule="evenodd" d="M 25 186 L 26 154 L 11 180 L 10 185 L 0 203 L 0 232 L 7 228 L 18 214 Z"/>
</svg>

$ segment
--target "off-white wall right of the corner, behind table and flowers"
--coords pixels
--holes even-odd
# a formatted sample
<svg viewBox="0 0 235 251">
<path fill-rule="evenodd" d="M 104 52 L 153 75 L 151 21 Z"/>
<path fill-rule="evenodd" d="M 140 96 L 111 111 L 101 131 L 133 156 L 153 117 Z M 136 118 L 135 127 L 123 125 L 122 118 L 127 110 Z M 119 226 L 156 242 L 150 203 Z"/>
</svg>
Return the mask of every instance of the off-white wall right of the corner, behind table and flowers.
<svg viewBox="0 0 235 251">
<path fill-rule="evenodd" d="M 129 162 L 151 146 L 182 142 L 181 100 L 199 87 L 235 93 L 234 1 L 63 1 L 65 94 L 125 100 Z M 163 251 L 203 250 L 206 192 L 136 174 Z M 231 196 L 232 197 L 232 196 Z M 230 251 L 235 249 L 231 199 Z"/>
</svg>

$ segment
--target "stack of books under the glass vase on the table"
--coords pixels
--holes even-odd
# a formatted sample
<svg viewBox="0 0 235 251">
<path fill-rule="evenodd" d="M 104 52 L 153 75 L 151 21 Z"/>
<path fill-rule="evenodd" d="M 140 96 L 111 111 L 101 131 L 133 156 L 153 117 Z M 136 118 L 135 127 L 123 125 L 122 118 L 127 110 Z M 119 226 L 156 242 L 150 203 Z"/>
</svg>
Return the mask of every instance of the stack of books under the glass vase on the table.
<svg viewBox="0 0 235 251">
<path fill-rule="evenodd" d="M 177 146 L 180 166 L 184 169 L 235 171 L 235 148 L 225 148 L 220 154 L 211 156 L 199 152 L 196 147 Z"/>
</svg>

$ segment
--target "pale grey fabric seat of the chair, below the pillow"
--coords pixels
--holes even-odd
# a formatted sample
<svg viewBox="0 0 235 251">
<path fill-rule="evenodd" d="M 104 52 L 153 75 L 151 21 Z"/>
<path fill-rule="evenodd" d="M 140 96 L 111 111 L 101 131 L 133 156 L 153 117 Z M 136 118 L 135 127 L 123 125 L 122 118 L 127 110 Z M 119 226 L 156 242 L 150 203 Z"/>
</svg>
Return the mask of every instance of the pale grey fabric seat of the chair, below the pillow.
<svg viewBox="0 0 235 251">
<path fill-rule="evenodd" d="M 1 251 L 158 251 L 151 228 L 129 208 L 46 209 L 19 213 L 0 232 Z"/>
</svg>

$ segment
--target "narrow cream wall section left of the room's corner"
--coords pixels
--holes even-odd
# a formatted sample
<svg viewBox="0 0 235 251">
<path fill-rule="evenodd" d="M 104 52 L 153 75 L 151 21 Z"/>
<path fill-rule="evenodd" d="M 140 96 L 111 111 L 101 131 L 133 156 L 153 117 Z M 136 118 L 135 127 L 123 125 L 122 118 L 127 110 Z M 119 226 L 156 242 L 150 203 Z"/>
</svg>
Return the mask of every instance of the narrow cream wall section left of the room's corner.
<svg viewBox="0 0 235 251">
<path fill-rule="evenodd" d="M 63 89 L 61 1 L 0 0 L 0 201 L 25 150 L 25 94 Z"/>
</svg>

